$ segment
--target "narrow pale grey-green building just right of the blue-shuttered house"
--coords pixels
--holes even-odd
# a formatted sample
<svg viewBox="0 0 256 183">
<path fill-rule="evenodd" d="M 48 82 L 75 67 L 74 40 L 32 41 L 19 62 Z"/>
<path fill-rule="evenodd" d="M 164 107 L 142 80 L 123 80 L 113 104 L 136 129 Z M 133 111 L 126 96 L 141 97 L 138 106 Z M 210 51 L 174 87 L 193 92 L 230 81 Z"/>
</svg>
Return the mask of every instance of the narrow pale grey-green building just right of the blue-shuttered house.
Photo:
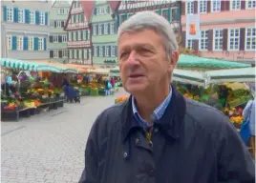
<svg viewBox="0 0 256 183">
<path fill-rule="evenodd" d="M 50 37 L 48 49 L 50 60 L 54 62 L 67 63 L 67 32 L 64 30 L 71 4 L 69 1 L 57 0 L 50 10 Z"/>
</svg>

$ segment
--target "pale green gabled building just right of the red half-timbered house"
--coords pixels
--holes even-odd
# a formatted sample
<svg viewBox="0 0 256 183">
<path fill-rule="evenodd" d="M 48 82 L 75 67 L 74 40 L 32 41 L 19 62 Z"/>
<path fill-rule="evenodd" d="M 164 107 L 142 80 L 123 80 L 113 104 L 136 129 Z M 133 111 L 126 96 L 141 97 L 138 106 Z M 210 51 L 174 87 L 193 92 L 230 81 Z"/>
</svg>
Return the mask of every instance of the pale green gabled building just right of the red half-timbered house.
<svg viewBox="0 0 256 183">
<path fill-rule="evenodd" d="M 93 27 L 93 61 L 101 68 L 117 66 L 117 21 L 119 1 L 95 1 Z"/>
</svg>

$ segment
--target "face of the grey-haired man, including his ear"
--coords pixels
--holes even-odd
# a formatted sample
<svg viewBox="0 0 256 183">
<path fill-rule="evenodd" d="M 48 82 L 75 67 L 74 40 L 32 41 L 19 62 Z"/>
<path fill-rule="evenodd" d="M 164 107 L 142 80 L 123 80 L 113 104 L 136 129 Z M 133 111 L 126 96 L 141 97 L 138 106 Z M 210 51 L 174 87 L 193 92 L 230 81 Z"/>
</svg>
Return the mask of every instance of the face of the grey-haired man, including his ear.
<svg viewBox="0 0 256 183">
<path fill-rule="evenodd" d="M 154 30 L 123 33 L 118 41 L 118 59 L 123 86 L 132 94 L 159 88 L 173 70 L 162 38 Z"/>
</svg>

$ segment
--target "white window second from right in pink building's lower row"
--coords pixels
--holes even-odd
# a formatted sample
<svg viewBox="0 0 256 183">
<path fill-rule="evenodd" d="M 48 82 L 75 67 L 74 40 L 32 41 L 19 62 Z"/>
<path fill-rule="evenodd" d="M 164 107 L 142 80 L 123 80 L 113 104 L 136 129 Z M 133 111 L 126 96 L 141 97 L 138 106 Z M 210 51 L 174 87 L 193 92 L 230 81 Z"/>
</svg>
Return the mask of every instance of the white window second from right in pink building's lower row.
<svg viewBox="0 0 256 183">
<path fill-rule="evenodd" d="M 229 29 L 228 31 L 228 50 L 238 51 L 239 50 L 239 39 L 240 39 L 239 29 Z"/>
</svg>

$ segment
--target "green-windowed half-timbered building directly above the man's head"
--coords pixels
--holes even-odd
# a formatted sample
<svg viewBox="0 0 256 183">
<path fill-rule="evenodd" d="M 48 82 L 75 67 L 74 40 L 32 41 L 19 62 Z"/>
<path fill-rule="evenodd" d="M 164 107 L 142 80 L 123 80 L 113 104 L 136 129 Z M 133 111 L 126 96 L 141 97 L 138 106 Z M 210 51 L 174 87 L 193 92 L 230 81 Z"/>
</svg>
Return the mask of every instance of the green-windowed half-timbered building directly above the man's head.
<svg viewBox="0 0 256 183">
<path fill-rule="evenodd" d="M 166 18 L 178 33 L 181 30 L 181 1 L 176 0 L 122 0 L 118 7 L 117 27 L 138 11 L 154 10 Z"/>
</svg>

